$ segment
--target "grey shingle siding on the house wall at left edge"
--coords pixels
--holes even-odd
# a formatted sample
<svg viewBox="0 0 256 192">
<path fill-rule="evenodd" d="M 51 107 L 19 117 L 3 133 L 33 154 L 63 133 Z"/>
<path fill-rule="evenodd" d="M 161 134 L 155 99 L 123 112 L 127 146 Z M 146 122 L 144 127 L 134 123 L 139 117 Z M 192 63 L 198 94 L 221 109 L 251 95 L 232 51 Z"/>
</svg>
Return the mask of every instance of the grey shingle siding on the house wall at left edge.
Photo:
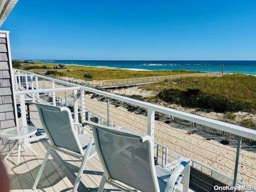
<svg viewBox="0 0 256 192">
<path fill-rule="evenodd" d="M 0 132 L 16 126 L 12 79 L 6 38 L 0 38 Z M 0 153 L 10 150 L 13 142 L 0 138 Z"/>
</svg>

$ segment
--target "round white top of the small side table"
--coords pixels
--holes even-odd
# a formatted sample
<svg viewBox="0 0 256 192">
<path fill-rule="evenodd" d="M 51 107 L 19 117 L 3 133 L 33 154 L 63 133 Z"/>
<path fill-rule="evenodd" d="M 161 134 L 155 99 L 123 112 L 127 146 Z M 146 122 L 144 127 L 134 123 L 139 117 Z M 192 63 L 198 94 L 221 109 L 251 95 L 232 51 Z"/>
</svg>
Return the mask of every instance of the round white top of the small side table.
<svg viewBox="0 0 256 192">
<path fill-rule="evenodd" d="M 34 126 L 21 126 L 21 127 L 12 127 L 6 129 L 0 133 L 0 137 L 8 140 L 23 139 L 29 137 L 36 133 L 37 129 Z"/>
</svg>

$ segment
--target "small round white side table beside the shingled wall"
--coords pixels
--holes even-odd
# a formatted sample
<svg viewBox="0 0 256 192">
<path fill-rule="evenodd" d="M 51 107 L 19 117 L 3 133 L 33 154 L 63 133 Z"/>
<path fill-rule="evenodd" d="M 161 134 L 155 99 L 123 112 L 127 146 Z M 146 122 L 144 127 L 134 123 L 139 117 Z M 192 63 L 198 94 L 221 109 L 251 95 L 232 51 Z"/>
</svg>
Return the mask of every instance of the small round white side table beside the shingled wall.
<svg viewBox="0 0 256 192">
<path fill-rule="evenodd" d="M 38 156 L 38 154 L 30 146 L 28 146 L 28 143 L 24 143 L 24 139 L 30 137 L 31 135 L 34 135 L 36 133 L 36 131 L 37 131 L 36 127 L 29 126 L 29 125 L 21 126 L 21 127 L 12 127 L 12 128 L 2 131 L 0 133 L 0 137 L 2 139 L 17 140 L 16 144 L 12 147 L 10 152 L 8 152 L 8 154 L 6 155 L 4 160 L 6 160 L 8 158 L 8 156 L 12 153 L 14 148 L 16 148 L 17 146 L 18 146 L 18 162 L 17 162 L 18 166 L 20 165 L 21 146 L 22 146 L 22 148 L 24 148 L 24 150 L 26 150 L 26 147 L 27 147 L 36 156 Z"/>
</svg>

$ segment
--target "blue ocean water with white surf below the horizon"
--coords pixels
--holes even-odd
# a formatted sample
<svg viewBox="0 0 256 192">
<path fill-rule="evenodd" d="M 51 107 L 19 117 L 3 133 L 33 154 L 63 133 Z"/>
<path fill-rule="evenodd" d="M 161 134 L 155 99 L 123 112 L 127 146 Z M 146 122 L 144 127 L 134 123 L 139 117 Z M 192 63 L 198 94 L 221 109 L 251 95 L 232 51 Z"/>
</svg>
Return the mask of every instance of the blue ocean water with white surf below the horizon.
<svg viewBox="0 0 256 192">
<path fill-rule="evenodd" d="M 30 60 L 66 65 L 84 65 L 92 67 L 110 67 L 133 70 L 190 70 L 244 73 L 256 75 L 256 61 L 92 61 L 92 60 Z"/>
</svg>

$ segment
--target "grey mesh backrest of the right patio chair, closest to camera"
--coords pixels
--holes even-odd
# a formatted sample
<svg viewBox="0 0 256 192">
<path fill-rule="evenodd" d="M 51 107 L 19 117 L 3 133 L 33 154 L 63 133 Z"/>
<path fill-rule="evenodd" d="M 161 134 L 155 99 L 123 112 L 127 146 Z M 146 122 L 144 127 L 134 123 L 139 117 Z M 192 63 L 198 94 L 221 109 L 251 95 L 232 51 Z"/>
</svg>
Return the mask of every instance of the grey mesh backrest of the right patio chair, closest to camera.
<svg viewBox="0 0 256 192">
<path fill-rule="evenodd" d="M 96 123 L 88 124 L 92 127 L 96 150 L 107 178 L 142 192 L 160 191 L 150 136 L 119 131 Z"/>
</svg>

